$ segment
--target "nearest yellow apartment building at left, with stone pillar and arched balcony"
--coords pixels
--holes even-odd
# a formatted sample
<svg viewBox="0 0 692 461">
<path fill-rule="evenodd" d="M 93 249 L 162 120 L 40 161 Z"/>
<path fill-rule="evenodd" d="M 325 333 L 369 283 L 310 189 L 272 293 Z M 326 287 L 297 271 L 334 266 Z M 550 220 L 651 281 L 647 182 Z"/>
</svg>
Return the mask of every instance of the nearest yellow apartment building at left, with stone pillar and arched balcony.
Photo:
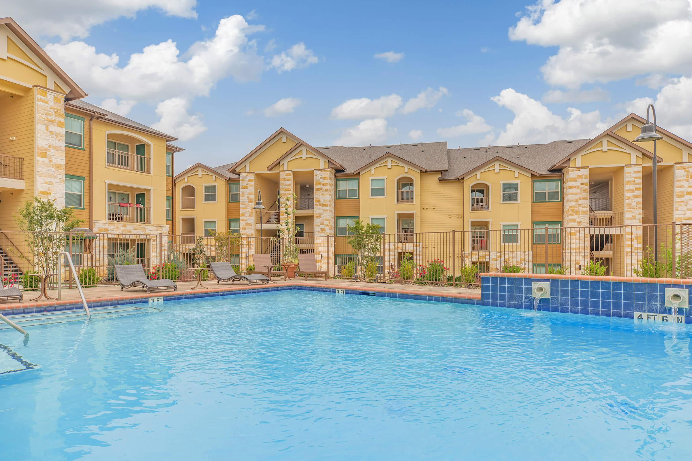
<svg viewBox="0 0 692 461">
<path fill-rule="evenodd" d="M 175 230 L 174 153 L 182 149 L 170 144 L 173 136 L 84 102 L 85 96 L 15 21 L 0 19 L 3 245 L 21 245 L 12 241 L 19 235 L 12 233 L 18 230 L 14 214 L 36 196 L 71 207 L 82 220 L 73 260 L 132 248 L 150 266 L 169 240 L 158 236 Z"/>
</svg>

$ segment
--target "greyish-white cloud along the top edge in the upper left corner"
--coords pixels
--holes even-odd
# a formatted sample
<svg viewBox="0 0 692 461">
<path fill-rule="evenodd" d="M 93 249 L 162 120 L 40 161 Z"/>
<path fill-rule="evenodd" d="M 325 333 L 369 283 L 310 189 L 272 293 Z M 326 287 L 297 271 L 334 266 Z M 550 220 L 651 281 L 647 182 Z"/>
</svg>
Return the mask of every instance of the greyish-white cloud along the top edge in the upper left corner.
<svg viewBox="0 0 692 461">
<path fill-rule="evenodd" d="M 3 2 L 3 16 L 10 16 L 35 39 L 60 37 L 67 41 L 84 38 L 93 26 L 118 19 L 134 18 L 154 8 L 169 16 L 196 18 L 196 0 L 71 0 L 69 5 L 55 0 Z"/>
</svg>

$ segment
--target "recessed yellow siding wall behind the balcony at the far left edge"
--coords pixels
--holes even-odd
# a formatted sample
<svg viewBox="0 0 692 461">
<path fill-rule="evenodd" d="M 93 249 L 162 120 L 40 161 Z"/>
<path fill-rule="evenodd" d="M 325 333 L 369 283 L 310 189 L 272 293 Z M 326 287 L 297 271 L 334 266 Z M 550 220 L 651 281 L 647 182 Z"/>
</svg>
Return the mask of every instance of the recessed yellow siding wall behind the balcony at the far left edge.
<svg viewBox="0 0 692 461">
<path fill-rule="evenodd" d="M 18 229 L 12 214 L 34 196 L 34 132 L 33 94 L 0 96 L 0 154 L 24 159 L 25 185 L 24 191 L 0 191 L 0 229 L 5 231 Z"/>
</svg>

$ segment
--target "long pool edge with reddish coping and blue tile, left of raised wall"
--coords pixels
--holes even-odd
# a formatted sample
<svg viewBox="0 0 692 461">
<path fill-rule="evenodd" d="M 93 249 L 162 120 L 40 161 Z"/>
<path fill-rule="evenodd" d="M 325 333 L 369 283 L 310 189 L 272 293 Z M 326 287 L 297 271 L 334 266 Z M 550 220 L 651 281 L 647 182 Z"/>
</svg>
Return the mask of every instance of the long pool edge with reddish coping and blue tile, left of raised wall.
<svg viewBox="0 0 692 461">
<path fill-rule="evenodd" d="M 367 286 L 363 288 L 354 287 L 354 285 L 343 285 L 338 283 L 327 283 L 313 285 L 302 281 L 287 282 L 280 285 L 228 285 L 221 288 L 202 288 L 198 290 L 183 290 L 176 292 L 155 292 L 146 293 L 140 292 L 137 294 L 125 294 L 118 297 L 102 297 L 91 298 L 86 302 L 90 308 L 103 308 L 113 305 L 138 304 L 145 303 L 150 298 L 163 297 L 169 301 L 178 301 L 180 299 L 197 299 L 206 297 L 230 296 L 233 294 L 242 294 L 244 292 L 269 292 L 282 290 L 308 290 L 316 292 L 336 292 L 336 290 L 345 290 L 345 294 L 370 294 L 374 296 L 390 297 L 400 299 L 414 299 L 418 301 L 438 301 L 438 302 L 453 302 L 461 303 L 462 300 L 475 303 L 481 301 L 481 294 L 466 294 L 466 293 L 440 293 L 425 290 L 405 290 L 401 288 L 388 288 Z M 0 313 L 3 315 L 17 314 L 41 314 L 57 312 L 62 310 L 79 310 L 82 309 L 82 301 L 80 299 L 69 299 L 64 301 L 36 301 L 33 303 L 21 304 L 1 304 Z"/>
</svg>

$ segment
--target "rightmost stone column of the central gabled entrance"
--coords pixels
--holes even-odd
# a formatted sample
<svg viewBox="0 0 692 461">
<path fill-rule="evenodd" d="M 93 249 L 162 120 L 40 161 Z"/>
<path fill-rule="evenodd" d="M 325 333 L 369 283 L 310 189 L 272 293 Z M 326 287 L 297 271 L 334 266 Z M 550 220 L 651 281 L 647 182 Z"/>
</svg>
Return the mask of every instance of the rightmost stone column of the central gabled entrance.
<svg viewBox="0 0 692 461">
<path fill-rule="evenodd" d="M 326 239 L 334 232 L 334 172 L 331 169 L 315 170 L 315 237 Z M 316 253 L 315 258 L 320 270 L 329 270 L 328 261 L 334 262 L 334 249 L 328 254 Z M 333 264 L 331 264 L 333 265 Z"/>
</svg>

